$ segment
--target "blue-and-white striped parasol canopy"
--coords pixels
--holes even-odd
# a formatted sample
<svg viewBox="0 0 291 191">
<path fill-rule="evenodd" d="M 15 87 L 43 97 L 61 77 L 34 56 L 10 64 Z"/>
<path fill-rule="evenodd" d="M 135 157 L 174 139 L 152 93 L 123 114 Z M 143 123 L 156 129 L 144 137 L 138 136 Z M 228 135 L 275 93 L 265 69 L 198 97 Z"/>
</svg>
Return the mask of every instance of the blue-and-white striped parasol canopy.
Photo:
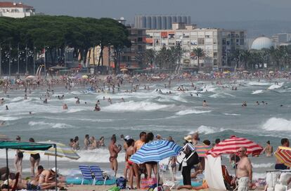
<svg viewBox="0 0 291 191">
<path fill-rule="evenodd" d="M 151 143 L 146 143 L 134 153 L 130 160 L 136 164 L 142 164 L 145 162 L 160 162 L 167 157 L 176 156 L 182 147 L 174 142 L 167 140 L 155 140 Z"/>
</svg>

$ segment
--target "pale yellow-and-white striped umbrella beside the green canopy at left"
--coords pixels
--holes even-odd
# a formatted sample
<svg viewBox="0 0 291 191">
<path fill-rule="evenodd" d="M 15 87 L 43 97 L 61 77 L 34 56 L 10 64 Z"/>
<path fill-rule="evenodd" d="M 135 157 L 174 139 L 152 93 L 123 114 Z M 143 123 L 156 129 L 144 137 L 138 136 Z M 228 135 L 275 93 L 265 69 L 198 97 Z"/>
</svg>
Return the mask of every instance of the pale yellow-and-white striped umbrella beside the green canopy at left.
<svg viewBox="0 0 291 191">
<path fill-rule="evenodd" d="M 53 142 L 46 141 L 46 142 L 41 142 L 41 143 L 53 143 Z M 56 144 L 56 151 L 54 148 L 50 148 L 44 152 L 45 155 L 66 157 L 68 159 L 74 159 L 74 160 L 77 160 L 80 158 L 79 154 L 77 154 L 77 152 L 75 152 L 75 150 L 72 150 L 70 147 L 67 147 L 67 145 L 64 145 L 63 143 L 54 143 L 54 144 Z"/>
</svg>

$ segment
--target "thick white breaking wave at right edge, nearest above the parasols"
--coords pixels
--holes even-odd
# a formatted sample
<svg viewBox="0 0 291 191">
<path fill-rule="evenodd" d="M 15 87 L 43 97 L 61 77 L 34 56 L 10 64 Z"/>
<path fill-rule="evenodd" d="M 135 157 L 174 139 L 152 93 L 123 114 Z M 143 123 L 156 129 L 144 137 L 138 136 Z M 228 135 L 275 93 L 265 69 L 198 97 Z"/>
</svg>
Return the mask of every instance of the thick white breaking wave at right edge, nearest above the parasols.
<svg viewBox="0 0 291 191">
<path fill-rule="evenodd" d="M 291 131 L 291 120 L 271 117 L 262 125 L 262 129 L 266 131 Z"/>
</svg>

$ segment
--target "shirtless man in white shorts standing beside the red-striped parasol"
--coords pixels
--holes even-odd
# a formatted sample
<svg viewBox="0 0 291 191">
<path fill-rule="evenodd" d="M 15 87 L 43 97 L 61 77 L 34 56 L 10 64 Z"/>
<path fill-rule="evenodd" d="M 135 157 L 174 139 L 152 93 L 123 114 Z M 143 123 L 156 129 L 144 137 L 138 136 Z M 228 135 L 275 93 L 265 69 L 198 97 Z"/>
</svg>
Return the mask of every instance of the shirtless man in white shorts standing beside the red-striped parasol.
<svg viewBox="0 0 291 191">
<path fill-rule="evenodd" d="M 240 162 L 238 162 L 238 169 L 236 170 L 236 176 L 233 178 L 232 183 L 238 180 L 238 191 L 247 191 L 252 187 L 252 163 L 247 158 L 246 147 L 240 147 L 238 152 Z"/>
</svg>

